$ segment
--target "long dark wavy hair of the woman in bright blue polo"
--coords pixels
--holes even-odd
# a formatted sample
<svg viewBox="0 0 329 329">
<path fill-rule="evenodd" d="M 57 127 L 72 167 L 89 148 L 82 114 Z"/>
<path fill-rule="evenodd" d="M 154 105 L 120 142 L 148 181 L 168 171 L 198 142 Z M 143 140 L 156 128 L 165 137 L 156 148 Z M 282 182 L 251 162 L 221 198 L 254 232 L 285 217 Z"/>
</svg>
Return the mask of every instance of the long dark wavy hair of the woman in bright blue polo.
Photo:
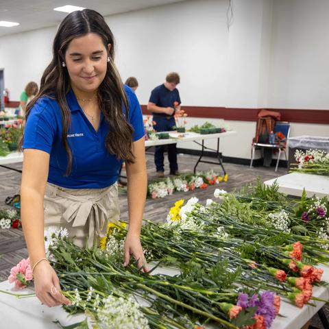
<svg viewBox="0 0 329 329">
<path fill-rule="evenodd" d="M 127 95 L 123 89 L 123 83 L 117 67 L 114 64 L 114 36 L 110 27 L 106 24 L 103 16 L 95 10 L 84 9 L 71 12 L 60 24 L 55 39 L 53 40 L 53 59 L 45 69 L 40 82 L 38 95 L 27 104 L 25 120 L 36 101 L 41 97 L 53 97 L 60 105 L 62 115 L 62 143 L 67 155 L 66 175 L 69 175 L 72 167 L 72 151 L 67 141 L 67 133 L 71 125 L 71 112 L 66 103 L 66 94 L 71 88 L 69 73 L 66 67 L 62 66 L 66 49 L 73 38 L 84 36 L 88 33 L 95 33 L 101 37 L 103 45 L 110 51 L 108 56 L 108 69 L 103 82 L 98 88 L 99 108 L 103 112 L 110 130 L 106 136 L 106 149 L 117 158 L 126 162 L 134 162 L 132 153 L 132 126 L 127 122 L 129 108 Z M 123 113 L 123 106 L 126 114 Z M 23 145 L 23 139 L 20 146 Z"/>
</svg>

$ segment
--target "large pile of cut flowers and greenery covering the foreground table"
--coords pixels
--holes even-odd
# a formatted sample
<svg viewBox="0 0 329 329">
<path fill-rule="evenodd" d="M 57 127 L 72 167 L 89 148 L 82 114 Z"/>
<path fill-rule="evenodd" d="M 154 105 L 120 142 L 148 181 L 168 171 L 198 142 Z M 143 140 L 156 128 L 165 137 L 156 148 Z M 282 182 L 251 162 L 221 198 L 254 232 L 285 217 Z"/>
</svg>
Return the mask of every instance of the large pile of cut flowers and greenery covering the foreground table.
<svg viewBox="0 0 329 329">
<path fill-rule="evenodd" d="M 178 200 L 167 223 L 145 221 L 141 242 L 147 261 L 175 266 L 175 276 L 123 267 L 124 223 L 109 224 L 101 248 L 80 249 L 66 230 L 47 233 L 48 257 L 72 302 L 65 310 L 85 313 L 82 328 L 203 329 L 215 321 L 224 328 L 268 329 L 282 299 L 300 308 L 320 300 L 313 286 L 327 283 L 315 263 L 329 260 L 318 247 L 321 240 L 308 231 L 287 234 L 259 225 L 273 208 L 290 215 L 287 204 L 296 206 L 295 200 L 263 186 L 248 195 L 224 192 L 215 191 L 215 201 L 208 199 L 206 206 L 195 197 Z M 265 208 L 260 200 L 269 196 Z M 11 273 L 19 286 L 32 282 L 25 265 Z"/>
</svg>

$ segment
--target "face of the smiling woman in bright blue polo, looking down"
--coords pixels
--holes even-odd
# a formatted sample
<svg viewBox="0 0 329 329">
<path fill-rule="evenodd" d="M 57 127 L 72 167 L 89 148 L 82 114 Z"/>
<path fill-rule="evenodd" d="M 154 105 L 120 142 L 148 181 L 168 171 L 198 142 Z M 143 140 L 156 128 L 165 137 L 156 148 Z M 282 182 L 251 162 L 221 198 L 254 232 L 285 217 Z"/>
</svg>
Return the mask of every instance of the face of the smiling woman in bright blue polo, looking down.
<svg viewBox="0 0 329 329">
<path fill-rule="evenodd" d="M 71 86 L 84 93 L 97 90 L 106 75 L 107 59 L 108 49 L 98 34 L 88 33 L 74 38 L 65 53 Z"/>
</svg>

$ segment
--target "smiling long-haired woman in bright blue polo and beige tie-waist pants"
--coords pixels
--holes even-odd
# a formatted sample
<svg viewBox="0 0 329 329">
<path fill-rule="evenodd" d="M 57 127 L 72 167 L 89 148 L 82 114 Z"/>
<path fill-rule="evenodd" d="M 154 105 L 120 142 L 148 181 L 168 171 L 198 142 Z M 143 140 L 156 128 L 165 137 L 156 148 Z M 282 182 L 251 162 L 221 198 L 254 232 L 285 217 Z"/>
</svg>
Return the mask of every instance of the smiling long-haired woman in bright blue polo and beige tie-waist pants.
<svg viewBox="0 0 329 329">
<path fill-rule="evenodd" d="M 69 304 L 45 254 L 44 228 L 67 228 L 93 245 L 119 219 L 117 179 L 127 169 L 130 254 L 147 271 L 140 241 L 147 175 L 144 127 L 136 95 L 114 65 L 114 39 L 101 14 L 72 12 L 53 41 L 53 59 L 28 104 L 23 137 L 21 217 L 36 295 Z"/>
</svg>

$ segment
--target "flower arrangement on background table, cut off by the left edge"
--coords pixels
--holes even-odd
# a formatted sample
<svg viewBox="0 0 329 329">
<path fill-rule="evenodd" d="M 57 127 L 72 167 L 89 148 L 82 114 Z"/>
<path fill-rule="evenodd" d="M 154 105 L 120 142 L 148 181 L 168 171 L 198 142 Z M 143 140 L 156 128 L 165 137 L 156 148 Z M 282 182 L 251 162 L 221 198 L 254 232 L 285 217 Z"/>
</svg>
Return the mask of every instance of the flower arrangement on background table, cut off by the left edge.
<svg viewBox="0 0 329 329">
<path fill-rule="evenodd" d="M 8 123 L 0 129 L 0 156 L 6 156 L 10 151 L 15 151 L 22 136 L 22 120 Z"/>
</svg>

